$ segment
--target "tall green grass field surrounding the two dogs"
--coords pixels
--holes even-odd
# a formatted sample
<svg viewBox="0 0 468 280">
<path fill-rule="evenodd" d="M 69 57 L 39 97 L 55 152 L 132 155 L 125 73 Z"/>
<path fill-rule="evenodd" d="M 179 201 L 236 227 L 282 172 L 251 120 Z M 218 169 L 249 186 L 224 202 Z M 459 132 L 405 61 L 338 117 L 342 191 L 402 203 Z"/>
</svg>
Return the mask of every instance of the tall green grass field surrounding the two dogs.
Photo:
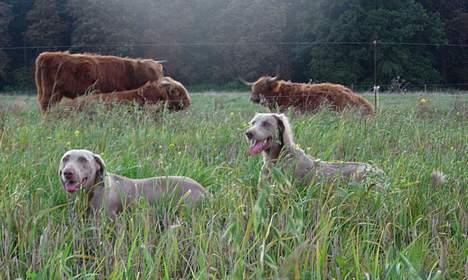
<svg viewBox="0 0 468 280">
<path fill-rule="evenodd" d="M 187 112 L 122 108 L 43 118 L 33 97 L 0 96 L 0 279 L 463 279 L 468 271 L 468 95 L 381 96 L 371 119 L 291 115 L 297 143 L 323 160 L 372 162 L 385 191 L 257 188 L 247 94 L 193 94 Z M 423 99 L 423 100 L 421 100 Z M 86 219 L 66 193 L 62 154 L 85 148 L 133 178 L 185 175 L 212 196 L 161 203 L 117 222 Z M 447 175 L 430 184 L 433 170 Z M 81 200 L 80 200 L 81 198 Z"/>
</svg>

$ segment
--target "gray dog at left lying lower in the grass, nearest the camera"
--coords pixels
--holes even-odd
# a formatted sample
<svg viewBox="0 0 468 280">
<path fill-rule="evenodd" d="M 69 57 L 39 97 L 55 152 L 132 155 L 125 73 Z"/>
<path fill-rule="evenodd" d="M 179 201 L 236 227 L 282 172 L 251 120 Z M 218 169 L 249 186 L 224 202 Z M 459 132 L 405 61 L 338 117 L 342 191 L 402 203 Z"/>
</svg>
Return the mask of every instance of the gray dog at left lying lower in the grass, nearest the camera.
<svg viewBox="0 0 468 280">
<path fill-rule="evenodd" d="M 60 161 L 59 176 L 66 191 L 84 189 L 90 209 L 96 213 L 104 208 L 111 218 L 141 198 L 154 203 L 169 195 L 193 203 L 206 194 L 202 185 L 188 177 L 130 179 L 106 173 L 104 160 L 88 150 L 66 152 Z"/>
</svg>

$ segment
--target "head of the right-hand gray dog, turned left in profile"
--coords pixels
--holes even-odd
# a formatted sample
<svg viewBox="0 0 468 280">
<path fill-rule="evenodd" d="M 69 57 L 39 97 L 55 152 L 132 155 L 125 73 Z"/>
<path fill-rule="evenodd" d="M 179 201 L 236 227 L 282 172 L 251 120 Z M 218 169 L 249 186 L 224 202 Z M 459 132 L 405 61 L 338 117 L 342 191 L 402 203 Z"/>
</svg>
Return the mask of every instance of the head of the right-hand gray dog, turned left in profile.
<svg viewBox="0 0 468 280">
<path fill-rule="evenodd" d="M 293 138 L 288 118 L 284 114 L 256 114 L 245 132 L 250 141 L 249 154 L 269 151 L 273 145 L 291 146 Z"/>
</svg>

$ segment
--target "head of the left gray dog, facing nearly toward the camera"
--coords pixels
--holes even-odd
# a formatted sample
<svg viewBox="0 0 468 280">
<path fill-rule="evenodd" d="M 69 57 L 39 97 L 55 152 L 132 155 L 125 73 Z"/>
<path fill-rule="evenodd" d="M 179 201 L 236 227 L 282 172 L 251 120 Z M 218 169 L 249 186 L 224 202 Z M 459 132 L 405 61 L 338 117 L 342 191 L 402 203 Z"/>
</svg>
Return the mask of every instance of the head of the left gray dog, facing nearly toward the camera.
<svg viewBox="0 0 468 280">
<path fill-rule="evenodd" d="M 105 168 L 99 155 L 88 150 L 70 150 L 60 160 L 60 181 L 70 193 L 89 189 L 104 179 Z"/>
</svg>

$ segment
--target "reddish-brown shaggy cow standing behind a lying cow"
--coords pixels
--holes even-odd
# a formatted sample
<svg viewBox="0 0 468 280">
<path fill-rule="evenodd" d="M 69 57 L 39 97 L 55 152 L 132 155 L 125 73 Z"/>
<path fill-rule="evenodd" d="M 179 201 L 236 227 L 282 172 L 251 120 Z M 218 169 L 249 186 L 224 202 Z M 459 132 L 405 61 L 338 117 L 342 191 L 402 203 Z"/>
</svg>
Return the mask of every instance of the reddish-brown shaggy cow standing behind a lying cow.
<svg viewBox="0 0 468 280">
<path fill-rule="evenodd" d="M 37 100 L 43 112 L 63 97 L 75 98 L 94 87 L 100 92 L 136 89 L 163 76 L 152 59 L 44 52 L 36 59 Z"/>
</svg>

